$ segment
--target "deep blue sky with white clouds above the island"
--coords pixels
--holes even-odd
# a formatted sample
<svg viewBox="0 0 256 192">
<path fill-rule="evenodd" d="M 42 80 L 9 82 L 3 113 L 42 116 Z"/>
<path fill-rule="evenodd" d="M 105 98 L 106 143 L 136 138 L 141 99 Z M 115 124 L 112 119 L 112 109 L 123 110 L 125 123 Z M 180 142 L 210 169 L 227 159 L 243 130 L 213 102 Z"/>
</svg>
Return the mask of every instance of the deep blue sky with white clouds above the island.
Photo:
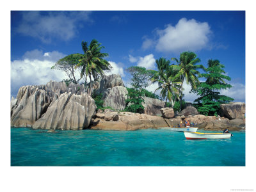
<svg viewBox="0 0 256 192">
<path fill-rule="evenodd" d="M 109 74 L 120 74 L 125 86 L 131 83 L 125 68 L 156 69 L 161 57 L 170 60 L 193 51 L 205 67 L 209 59 L 220 60 L 233 86 L 221 94 L 245 102 L 244 11 L 12 11 L 11 95 L 23 85 L 66 79 L 52 65 L 83 53 L 81 42 L 94 38 L 109 54 Z M 151 84 L 147 89 L 156 88 Z M 184 99 L 193 102 L 198 96 L 189 93 L 188 84 L 184 88 Z"/>
</svg>

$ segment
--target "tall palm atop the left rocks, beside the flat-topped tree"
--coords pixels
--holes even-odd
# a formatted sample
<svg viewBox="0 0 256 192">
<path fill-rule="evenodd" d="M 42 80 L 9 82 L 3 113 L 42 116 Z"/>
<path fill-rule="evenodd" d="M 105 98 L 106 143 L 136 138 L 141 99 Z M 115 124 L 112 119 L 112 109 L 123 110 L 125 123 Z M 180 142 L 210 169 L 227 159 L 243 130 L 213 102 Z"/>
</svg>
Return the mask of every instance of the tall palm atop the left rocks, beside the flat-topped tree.
<svg viewBox="0 0 256 192">
<path fill-rule="evenodd" d="M 92 77 L 94 80 L 97 80 L 99 76 L 103 76 L 104 70 L 110 70 L 111 66 L 108 61 L 103 58 L 108 56 L 108 53 L 100 52 L 103 46 L 100 46 L 99 42 L 95 39 L 92 40 L 88 47 L 87 42 L 82 42 L 83 49 L 83 58 L 79 60 L 79 63 L 76 67 L 82 67 L 81 77 L 85 76 L 85 81 L 87 76 L 90 79 L 90 90 L 89 95 L 92 94 Z"/>
</svg>

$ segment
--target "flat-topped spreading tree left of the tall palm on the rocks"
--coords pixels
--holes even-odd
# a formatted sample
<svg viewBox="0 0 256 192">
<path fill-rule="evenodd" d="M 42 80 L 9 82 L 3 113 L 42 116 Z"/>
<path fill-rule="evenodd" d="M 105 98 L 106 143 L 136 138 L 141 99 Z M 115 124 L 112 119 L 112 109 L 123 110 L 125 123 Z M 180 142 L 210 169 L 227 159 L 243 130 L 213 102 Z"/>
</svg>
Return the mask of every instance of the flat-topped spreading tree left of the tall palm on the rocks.
<svg viewBox="0 0 256 192">
<path fill-rule="evenodd" d="M 76 77 L 76 65 L 81 58 L 82 54 L 70 54 L 58 60 L 55 65 L 52 66 L 52 69 L 62 70 L 66 73 L 69 79 L 63 79 L 63 81 L 68 82 L 68 84 L 70 82 L 77 84 L 82 79 L 82 77 Z M 78 70 L 81 70 L 81 68 L 78 68 Z"/>
</svg>

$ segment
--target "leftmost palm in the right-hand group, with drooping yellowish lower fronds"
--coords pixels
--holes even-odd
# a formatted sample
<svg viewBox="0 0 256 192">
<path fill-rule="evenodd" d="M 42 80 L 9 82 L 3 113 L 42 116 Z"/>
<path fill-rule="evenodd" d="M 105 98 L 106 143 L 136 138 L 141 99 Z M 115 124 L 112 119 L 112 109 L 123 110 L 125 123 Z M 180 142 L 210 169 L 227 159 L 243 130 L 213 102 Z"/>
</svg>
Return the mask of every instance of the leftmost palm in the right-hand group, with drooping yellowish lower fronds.
<svg viewBox="0 0 256 192">
<path fill-rule="evenodd" d="M 158 83 L 157 90 L 161 90 L 160 96 L 162 99 L 167 99 L 171 102 L 173 108 L 177 95 L 179 95 L 179 84 L 180 81 L 177 78 L 175 79 L 175 70 L 170 66 L 170 61 L 165 58 L 159 58 L 156 60 L 158 71 L 155 72 L 154 76 L 151 78 L 152 83 Z M 155 92 L 156 92 L 155 91 Z"/>
</svg>

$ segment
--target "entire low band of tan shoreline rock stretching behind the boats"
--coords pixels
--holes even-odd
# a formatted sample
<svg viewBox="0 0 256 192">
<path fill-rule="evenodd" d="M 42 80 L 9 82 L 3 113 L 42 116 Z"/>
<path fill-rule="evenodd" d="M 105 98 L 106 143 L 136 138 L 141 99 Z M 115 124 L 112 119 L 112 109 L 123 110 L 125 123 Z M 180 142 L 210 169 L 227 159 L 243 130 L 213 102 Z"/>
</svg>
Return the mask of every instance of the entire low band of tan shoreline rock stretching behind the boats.
<svg viewBox="0 0 256 192">
<path fill-rule="evenodd" d="M 177 127 L 180 121 L 190 121 L 193 122 L 195 127 L 199 129 L 205 129 L 209 131 L 223 131 L 228 129 L 230 131 L 239 131 L 244 129 L 245 122 L 243 120 L 232 122 L 233 120 L 228 120 L 228 118 L 221 118 L 216 116 L 204 116 L 195 115 L 188 116 L 185 119 L 182 118 L 163 118 L 160 116 L 151 116 L 138 113 L 130 112 L 108 112 L 108 118 L 102 118 L 97 115 L 90 126 L 90 129 L 102 129 L 102 130 L 120 130 L 120 131 L 134 131 L 137 129 L 148 129 L 154 128 L 158 129 L 160 127 Z M 106 115 L 106 114 L 105 114 Z M 118 116 L 118 120 L 114 120 L 113 116 Z"/>
</svg>

